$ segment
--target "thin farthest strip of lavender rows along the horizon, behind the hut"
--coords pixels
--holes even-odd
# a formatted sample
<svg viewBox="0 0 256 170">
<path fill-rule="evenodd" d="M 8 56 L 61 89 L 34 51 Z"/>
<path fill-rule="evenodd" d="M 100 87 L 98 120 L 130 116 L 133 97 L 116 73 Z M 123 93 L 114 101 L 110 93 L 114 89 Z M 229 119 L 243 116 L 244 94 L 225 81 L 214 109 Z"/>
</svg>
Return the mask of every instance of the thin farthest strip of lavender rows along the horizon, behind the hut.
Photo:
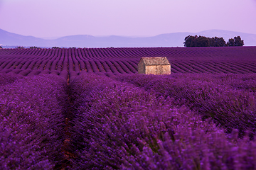
<svg viewBox="0 0 256 170">
<path fill-rule="evenodd" d="M 11 56 L 26 55 L 28 58 L 38 56 L 53 57 L 62 55 L 82 59 L 139 59 L 140 57 L 159 56 L 174 59 L 253 59 L 255 47 L 122 47 L 122 48 L 62 48 L 62 49 L 1 49 L 0 59 Z"/>
</svg>

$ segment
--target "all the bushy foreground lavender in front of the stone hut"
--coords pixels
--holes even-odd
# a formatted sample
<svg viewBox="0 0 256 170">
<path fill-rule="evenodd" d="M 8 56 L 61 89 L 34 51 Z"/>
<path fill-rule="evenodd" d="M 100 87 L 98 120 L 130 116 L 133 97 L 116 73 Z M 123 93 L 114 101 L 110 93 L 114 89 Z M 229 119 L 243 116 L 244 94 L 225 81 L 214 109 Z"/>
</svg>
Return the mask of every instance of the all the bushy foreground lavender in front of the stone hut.
<svg viewBox="0 0 256 170">
<path fill-rule="evenodd" d="M 0 169 L 256 169 L 254 74 L 63 73 L 0 74 Z"/>
</svg>

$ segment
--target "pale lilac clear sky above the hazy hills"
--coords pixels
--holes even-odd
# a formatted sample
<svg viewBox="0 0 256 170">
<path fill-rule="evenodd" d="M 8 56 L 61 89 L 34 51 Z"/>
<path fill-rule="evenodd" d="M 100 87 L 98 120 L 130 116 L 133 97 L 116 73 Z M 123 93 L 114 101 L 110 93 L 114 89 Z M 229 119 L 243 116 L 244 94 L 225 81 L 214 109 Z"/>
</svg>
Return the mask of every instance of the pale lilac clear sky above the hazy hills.
<svg viewBox="0 0 256 170">
<path fill-rule="evenodd" d="M 0 28 L 38 38 L 256 34 L 256 0 L 0 0 Z"/>
</svg>

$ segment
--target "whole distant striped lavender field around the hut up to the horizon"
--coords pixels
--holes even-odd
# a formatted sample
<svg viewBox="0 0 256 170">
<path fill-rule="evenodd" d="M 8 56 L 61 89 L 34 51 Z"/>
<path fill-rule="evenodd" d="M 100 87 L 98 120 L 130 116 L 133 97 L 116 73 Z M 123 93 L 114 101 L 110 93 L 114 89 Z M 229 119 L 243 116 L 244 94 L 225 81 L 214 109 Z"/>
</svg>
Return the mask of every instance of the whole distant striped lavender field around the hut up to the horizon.
<svg viewBox="0 0 256 170">
<path fill-rule="evenodd" d="M 137 73 L 141 57 L 167 57 L 171 73 L 256 73 L 256 47 L 149 47 L 0 49 L 0 72 L 57 74 L 72 80 L 80 72 Z"/>
</svg>

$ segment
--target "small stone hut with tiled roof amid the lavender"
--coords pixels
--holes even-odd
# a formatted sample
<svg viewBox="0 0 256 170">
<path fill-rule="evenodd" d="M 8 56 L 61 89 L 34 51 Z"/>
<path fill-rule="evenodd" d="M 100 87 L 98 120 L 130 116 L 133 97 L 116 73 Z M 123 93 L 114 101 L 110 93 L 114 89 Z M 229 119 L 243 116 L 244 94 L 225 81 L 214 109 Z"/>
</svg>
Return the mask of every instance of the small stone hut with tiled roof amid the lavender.
<svg viewBox="0 0 256 170">
<path fill-rule="evenodd" d="M 171 64 L 166 57 L 142 57 L 138 64 L 139 74 L 171 74 Z"/>
</svg>

